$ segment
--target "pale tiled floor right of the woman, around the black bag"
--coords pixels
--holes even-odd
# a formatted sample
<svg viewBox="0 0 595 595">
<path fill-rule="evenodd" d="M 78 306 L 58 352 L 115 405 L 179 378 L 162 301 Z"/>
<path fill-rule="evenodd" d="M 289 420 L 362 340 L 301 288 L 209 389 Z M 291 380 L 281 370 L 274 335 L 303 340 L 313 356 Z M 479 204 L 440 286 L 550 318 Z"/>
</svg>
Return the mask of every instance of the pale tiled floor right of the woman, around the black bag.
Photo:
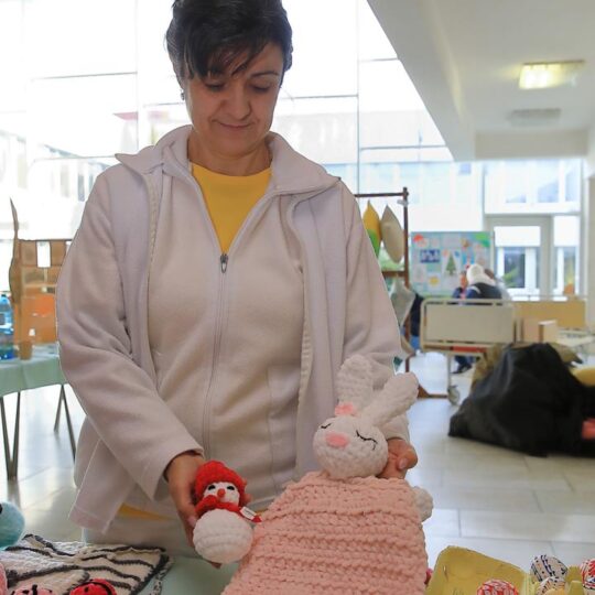
<svg viewBox="0 0 595 595">
<path fill-rule="evenodd" d="M 444 391 L 442 356 L 415 358 L 412 369 L 429 392 Z M 453 379 L 465 396 L 470 374 Z M 536 458 L 448 437 L 455 411 L 446 399 L 423 399 L 409 415 L 420 463 L 408 478 L 434 497 L 434 515 L 425 522 L 431 563 L 446 545 L 524 570 L 539 553 L 566 564 L 595 558 L 595 459 Z"/>
</svg>

